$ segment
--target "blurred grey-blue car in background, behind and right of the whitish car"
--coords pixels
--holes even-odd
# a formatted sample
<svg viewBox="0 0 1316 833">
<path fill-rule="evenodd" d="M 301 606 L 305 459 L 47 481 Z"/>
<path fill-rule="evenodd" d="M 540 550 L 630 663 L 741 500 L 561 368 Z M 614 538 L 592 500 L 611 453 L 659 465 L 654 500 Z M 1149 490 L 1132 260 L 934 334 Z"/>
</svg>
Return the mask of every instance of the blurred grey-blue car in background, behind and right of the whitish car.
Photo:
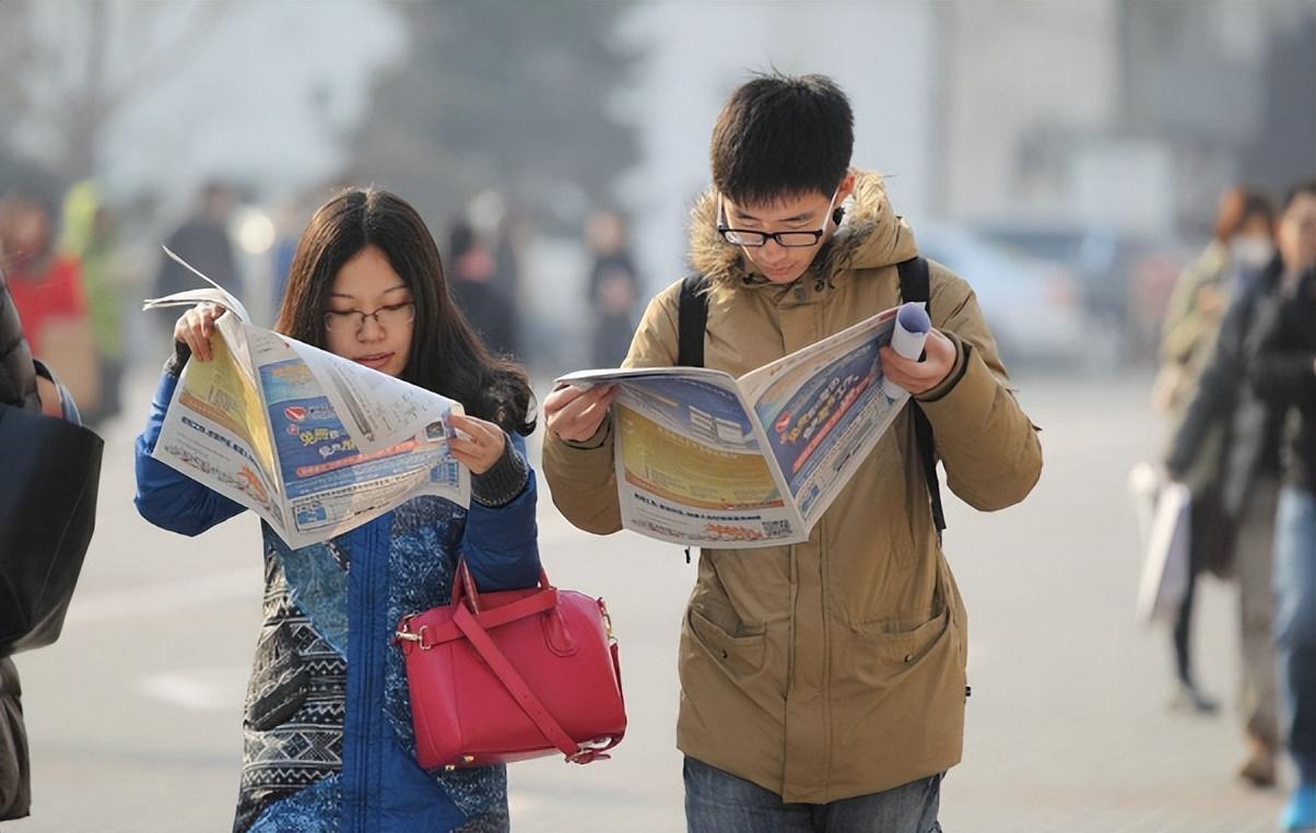
<svg viewBox="0 0 1316 833">
<path fill-rule="evenodd" d="M 1099 329 L 1117 338 L 1120 363 L 1153 363 L 1174 282 L 1190 253 L 1177 241 L 1119 229 L 995 222 L 975 232 L 1029 255 L 1063 263 Z"/>
</svg>

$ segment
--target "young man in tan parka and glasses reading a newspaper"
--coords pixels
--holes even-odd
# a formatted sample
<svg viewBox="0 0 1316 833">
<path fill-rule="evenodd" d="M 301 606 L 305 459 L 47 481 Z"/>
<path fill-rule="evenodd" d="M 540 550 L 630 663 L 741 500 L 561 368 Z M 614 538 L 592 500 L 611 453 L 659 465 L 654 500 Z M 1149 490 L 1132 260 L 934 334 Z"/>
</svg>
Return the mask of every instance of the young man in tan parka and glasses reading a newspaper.
<svg viewBox="0 0 1316 833">
<path fill-rule="evenodd" d="M 822 76 L 740 87 L 712 139 L 691 262 L 709 284 L 704 365 L 741 375 L 900 301 L 913 233 L 851 170 L 853 116 Z M 853 197 L 844 212 L 838 208 Z M 680 283 L 649 304 L 629 367 L 674 365 Z M 983 511 L 1041 471 L 974 293 L 930 265 L 923 361 L 884 375 L 926 413 L 950 488 Z M 545 472 L 572 524 L 620 528 L 607 388 L 545 401 Z M 678 746 L 691 830 L 928 830 L 961 757 L 966 613 L 941 553 L 909 408 L 805 543 L 704 549 L 682 628 Z"/>
</svg>

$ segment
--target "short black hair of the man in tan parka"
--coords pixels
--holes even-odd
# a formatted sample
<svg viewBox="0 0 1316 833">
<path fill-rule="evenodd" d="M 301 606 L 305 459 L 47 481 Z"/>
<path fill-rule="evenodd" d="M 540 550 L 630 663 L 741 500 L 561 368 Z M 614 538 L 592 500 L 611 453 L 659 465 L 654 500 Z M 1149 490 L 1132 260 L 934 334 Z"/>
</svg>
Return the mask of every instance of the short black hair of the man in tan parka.
<svg viewBox="0 0 1316 833">
<path fill-rule="evenodd" d="M 854 113 L 825 75 L 765 74 L 732 93 L 713 126 L 713 186 L 741 205 L 819 192 L 850 166 Z"/>
</svg>

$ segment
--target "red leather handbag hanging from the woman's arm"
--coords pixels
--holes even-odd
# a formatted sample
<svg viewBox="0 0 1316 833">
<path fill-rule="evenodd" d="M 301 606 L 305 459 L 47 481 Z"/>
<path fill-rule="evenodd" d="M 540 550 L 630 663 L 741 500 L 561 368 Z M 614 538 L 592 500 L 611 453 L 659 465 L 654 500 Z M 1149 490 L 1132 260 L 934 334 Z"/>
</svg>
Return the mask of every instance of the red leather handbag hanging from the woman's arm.
<svg viewBox="0 0 1316 833">
<path fill-rule="evenodd" d="M 603 599 L 549 584 L 479 593 L 458 561 L 447 607 L 407 616 L 416 758 L 425 769 L 488 766 L 561 751 L 607 758 L 626 709 Z"/>
</svg>

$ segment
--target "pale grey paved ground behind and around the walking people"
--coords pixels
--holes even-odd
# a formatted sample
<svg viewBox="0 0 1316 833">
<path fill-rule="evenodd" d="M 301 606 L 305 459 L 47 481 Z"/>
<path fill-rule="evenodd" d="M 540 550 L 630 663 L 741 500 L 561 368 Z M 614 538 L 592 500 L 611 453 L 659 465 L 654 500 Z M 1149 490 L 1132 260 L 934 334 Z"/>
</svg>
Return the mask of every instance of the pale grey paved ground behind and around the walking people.
<svg viewBox="0 0 1316 833">
<path fill-rule="evenodd" d="M 146 403 L 153 380 L 133 379 Z M 1148 380 L 1024 379 L 1046 470 L 1021 507 L 978 515 L 951 500 L 948 551 L 971 618 L 965 763 L 945 782 L 948 832 L 1273 830 L 1274 792 L 1233 778 L 1238 732 L 1165 709 L 1167 638 L 1132 616 L 1138 558 L 1124 492 L 1155 450 Z M 107 432 L 96 540 L 63 638 L 18 658 L 33 742 L 34 816 L 4 833 L 226 830 L 241 701 L 259 616 L 257 524 L 199 540 L 132 507 L 132 436 Z M 546 496 L 545 496 L 546 497 Z M 612 761 L 512 769 L 517 830 L 680 830 L 672 746 L 676 632 L 694 568 L 680 549 L 594 538 L 547 499 L 542 550 L 555 583 L 603 595 L 622 649 L 630 729 Z M 1229 586 L 1199 617 L 1205 687 L 1233 694 Z"/>
</svg>

